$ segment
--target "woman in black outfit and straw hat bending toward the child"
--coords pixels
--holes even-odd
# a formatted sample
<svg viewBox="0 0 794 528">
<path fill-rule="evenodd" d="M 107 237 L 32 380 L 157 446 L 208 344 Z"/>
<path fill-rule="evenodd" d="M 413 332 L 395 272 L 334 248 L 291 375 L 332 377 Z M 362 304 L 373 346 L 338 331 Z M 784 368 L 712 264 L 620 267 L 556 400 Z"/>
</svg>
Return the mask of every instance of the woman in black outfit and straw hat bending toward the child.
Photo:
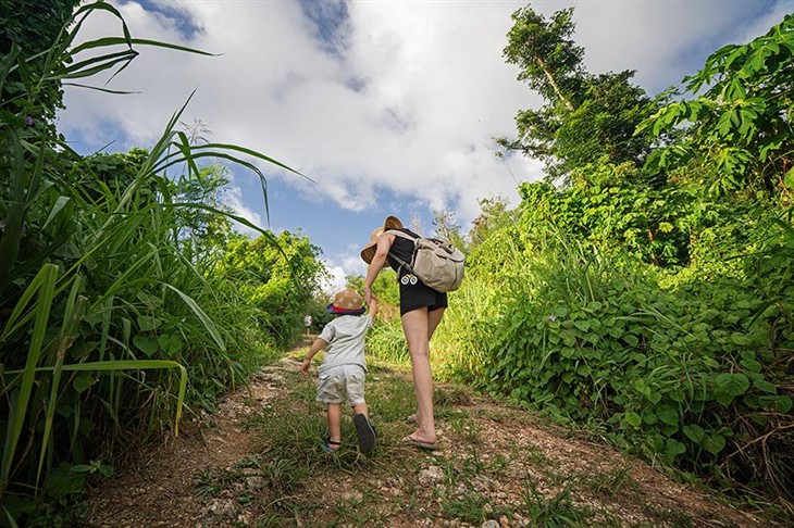
<svg viewBox="0 0 794 528">
<path fill-rule="evenodd" d="M 447 294 L 425 286 L 415 276 L 401 267 L 389 252 L 405 262 L 410 262 L 414 242 L 396 235 L 384 234 L 399 229 L 418 237 L 406 229 L 396 216 L 388 216 L 383 227 L 372 231 L 370 243 L 361 250 L 361 259 L 370 267 L 364 279 L 364 302 L 372 298 L 372 284 L 383 266 L 388 263 L 397 272 L 400 282 L 400 317 L 402 331 L 408 342 L 413 370 L 413 391 L 417 394 L 417 414 L 409 419 L 419 428 L 402 439 L 404 443 L 419 448 L 434 449 L 436 445 L 433 417 L 433 376 L 430 370 L 430 338 L 438 326 L 447 307 Z"/>
</svg>

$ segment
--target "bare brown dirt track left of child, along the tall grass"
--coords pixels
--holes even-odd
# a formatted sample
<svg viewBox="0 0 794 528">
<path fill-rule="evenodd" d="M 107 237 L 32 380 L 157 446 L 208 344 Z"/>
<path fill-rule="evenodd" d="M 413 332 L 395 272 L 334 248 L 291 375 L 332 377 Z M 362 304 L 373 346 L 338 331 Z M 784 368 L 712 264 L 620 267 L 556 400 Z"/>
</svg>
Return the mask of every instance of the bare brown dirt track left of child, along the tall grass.
<svg viewBox="0 0 794 528">
<path fill-rule="evenodd" d="M 284 368 L 291 366 L 284 362 Z M 135 468 L 102 482 L 88 501 L 87 526 L 224 526 L 215 520 L 231 513 L 221 499 L 203 501 L 196 493 L 202 475 L 229 468 L 261 448 L 245 419 L 268 401 L 284 397 L 281 365 L 263 368 L 250 387 L 224 397 L 208 428 L 193 425 L 170 444 L 150 452 Z"/>
</svg>

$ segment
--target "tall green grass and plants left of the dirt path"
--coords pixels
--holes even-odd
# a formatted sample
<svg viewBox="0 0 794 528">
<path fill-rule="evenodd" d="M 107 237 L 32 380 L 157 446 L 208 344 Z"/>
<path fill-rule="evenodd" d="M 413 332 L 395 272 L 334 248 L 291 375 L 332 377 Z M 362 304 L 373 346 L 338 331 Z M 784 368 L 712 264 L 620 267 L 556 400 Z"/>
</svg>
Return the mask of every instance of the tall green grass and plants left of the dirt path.
<svg viewBox="0 0 794 528">
<path fill-rule="evenodd" d="M 123 36 L 76 43 L 86 18 L 99 13 L 117 20 Z M 251 169 L 264 192 L 255 162 L 289 167 L 233 144 L 191 144 L 176 128 L 183 106 L 150 151 L 110 181 L 61 141 L 37 106 L 61 85 L 117 74 L 136 46 L 209 54 L 132 38 L 117 10 L 94 2 L 47 51 L 14 49 L 0 60 L 0 90 L 12 76 L 23 79 L 16 96 L 0 101 L 3 525 L 29 521 L 41 501 L 79 492 L 86 476 L 72 467 L 177 433 L 186 402 L 211 407 L 216 393 L 273 353 L 258 331 L 263 315 L 215 273 L 218 252 L 186 255 L 179 212 L 225 215 L 274 237 L 183 201 L 166 173 L 198 178 L 201 160 L 221 159 Z"/>
</svg>

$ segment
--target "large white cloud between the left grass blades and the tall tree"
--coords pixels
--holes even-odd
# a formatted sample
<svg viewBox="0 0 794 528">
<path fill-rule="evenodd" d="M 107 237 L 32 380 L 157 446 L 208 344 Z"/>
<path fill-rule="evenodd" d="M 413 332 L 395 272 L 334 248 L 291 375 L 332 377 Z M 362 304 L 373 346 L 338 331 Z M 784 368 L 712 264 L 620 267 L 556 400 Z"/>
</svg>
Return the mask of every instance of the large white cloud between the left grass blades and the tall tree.
<svg viewBox="0 0 794 528">
<path fill-rule="evenodd" d="M 390 188 L 471 217 L 480 196 L 514 194 L 508 167 L 519 179 L 539 175 L 535 164 L 495 158 L 489 144 L 511 133 L 518 108 L 534 101 L 500 60 L 509 5 L 351 3 L 344 56 L 322 51 L 297 3 L 178 5 L 202 29 L 191 41 L 135 2 L 120 10 L 137 37 L 223 55 L 144 49 L 113 83 L 144 95 L 120 101 L 69 89 L 61 116 L 67 136 L 96 139 L 91 130 L 110 122 L 129 144 L 149 144 L 198 87 L 186 120 L 198 116 L 215 138 L 288 162 L 319 183 L 296 181 L 298 189 L 351 211 L 372 206 L 377 189 Z M 97 16 L 88 36 L 113 33 L 114 25 Z"/>
</svg>

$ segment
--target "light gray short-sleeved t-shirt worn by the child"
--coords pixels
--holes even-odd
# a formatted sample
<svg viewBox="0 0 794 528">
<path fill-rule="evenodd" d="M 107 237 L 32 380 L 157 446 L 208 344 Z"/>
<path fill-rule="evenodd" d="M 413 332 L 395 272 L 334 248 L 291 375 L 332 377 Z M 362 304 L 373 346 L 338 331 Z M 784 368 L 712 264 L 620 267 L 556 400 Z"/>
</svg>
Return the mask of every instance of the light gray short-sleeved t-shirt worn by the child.
<svg viewBox="0 0 794 528">
<path fill-rule="evenodd" d="M 361 365 L 367 370 L 364 361 L 364 336 L 372 326 L 369 315 L 342 315 L 325 325 L 318 336 L 327 342 L 325 361 L 319 373 L 339 365 Z"/>
</svg>

